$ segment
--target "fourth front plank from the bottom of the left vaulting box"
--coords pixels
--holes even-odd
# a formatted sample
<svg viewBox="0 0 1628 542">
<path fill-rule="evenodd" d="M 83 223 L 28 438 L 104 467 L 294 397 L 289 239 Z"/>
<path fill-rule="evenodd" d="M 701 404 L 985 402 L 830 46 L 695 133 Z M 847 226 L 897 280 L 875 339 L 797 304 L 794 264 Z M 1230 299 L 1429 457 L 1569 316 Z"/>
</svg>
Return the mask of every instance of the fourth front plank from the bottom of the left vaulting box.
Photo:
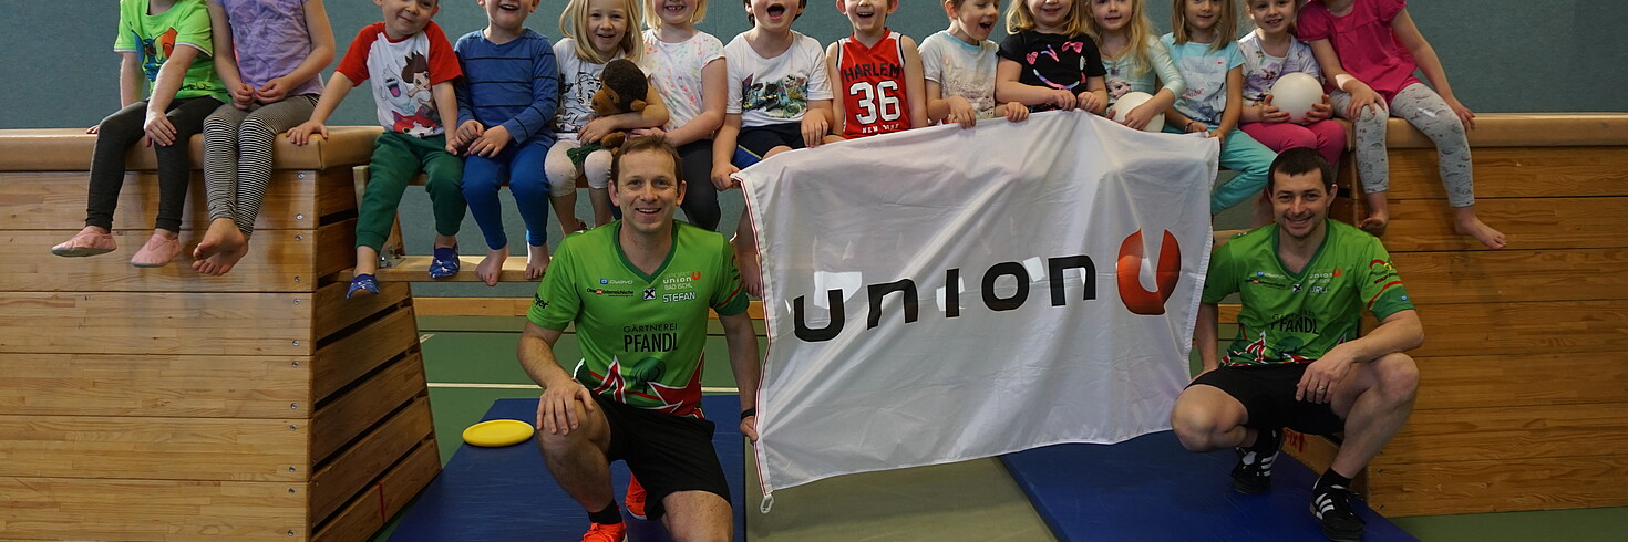
<svg viewBox="0 0 1628 542">
<path fill-rule="evenodd" d="M 0 353 L 306 356 L 309 303 L 295 293 L 7 291 Z"/>
</svg>

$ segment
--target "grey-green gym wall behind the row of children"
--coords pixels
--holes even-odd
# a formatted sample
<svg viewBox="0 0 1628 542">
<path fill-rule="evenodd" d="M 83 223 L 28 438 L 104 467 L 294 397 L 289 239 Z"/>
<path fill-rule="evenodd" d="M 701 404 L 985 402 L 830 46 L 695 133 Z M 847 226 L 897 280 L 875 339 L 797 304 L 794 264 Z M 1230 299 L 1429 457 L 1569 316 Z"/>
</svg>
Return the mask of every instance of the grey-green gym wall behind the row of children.
<svg viewBox="0 0 1628 542">
<path fill-rule="evenodd" d="M 921 39 L 946 26 L 939 2 L 902 2 L 894 29 Z M 558 37 L 563 5 L 544 0 L 529 26 Z M 0 50 L 11 50 L 0 57 L 8 80 L 0 85 L 7 106 L 0 129 L 91 125 L 117 107 L 112 0 L 0 0 Z M 379 8 L 363 0 L 327 0 L 327 11 L 340 47 L 358 28 L 379 20 Z M 708 11 L 700 28 L 724 42 L 747 29 L 739 3 L 713 2 Z M 1153 0 L 1148 11 L 1161 33 L 1169 29 L 1167 2 Z M 1628 5 L 1421 0 L 1410 13 L 1436 46 L 1459 98 L 1475 111 L 1628 111 L 1628 41 L 1620 37 Z M 435 20 L 454 41 L 485 26 L 474 0 L 443 0 Z M 834 2 L 814 2 L 796 28 L 821 42 L 848 34 Z M 371 107 L 366 93 L 352 93 L 334 124 L 371 124 Z"/>
</svg>

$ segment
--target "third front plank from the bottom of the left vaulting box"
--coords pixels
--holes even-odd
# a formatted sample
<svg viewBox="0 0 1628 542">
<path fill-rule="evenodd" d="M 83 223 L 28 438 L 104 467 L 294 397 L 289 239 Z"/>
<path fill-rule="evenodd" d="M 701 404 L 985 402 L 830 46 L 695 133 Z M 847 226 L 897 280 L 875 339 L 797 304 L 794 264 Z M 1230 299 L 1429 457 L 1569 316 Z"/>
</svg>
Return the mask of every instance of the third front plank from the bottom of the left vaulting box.
<svg viewBox="0 0 1628 542">
<path fill-rule="evenodd" d="M 0 415 L 306 418 L 304 356 L 0 353 Z"/>
</svg>

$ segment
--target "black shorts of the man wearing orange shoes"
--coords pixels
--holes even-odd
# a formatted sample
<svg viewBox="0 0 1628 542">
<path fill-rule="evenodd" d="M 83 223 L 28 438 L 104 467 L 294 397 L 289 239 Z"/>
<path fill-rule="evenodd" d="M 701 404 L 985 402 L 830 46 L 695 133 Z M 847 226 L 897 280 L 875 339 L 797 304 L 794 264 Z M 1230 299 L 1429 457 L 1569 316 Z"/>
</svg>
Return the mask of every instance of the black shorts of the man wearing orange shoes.
<svg viewBox="0 0 1628 542">
<path fill-rule="evenodd" d="M 594 394 L 610 422 L 610 461 L 625 461 L 645 487 L 645 518 L 661 518 L 661 500 L 677 492 L 707 492 L 729 501 L 729 482 L 711 446 L 710 420 L 630 407 Z"/>
</svg>

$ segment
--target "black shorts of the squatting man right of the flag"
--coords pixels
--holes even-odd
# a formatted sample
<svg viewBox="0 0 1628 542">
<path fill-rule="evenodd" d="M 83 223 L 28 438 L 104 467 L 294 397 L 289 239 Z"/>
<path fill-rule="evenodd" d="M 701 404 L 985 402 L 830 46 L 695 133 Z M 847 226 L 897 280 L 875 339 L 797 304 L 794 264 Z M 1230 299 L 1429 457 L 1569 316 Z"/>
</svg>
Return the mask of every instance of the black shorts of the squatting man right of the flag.
<svg viewBox="0 0 1628 542">
<path fill-rule="evenodd" d="M 1247 426 L 1257 430 L 1291 428 L 1307 435 L 1345 431 L 1345 420 L 1328 404 L 1294 400 L 1294 386 L 1306 374 L 1304 363 L 1223 366 L 1205 373 L 1188 387 L 1219 387 L 1249 410 Z"/>
</svg>

